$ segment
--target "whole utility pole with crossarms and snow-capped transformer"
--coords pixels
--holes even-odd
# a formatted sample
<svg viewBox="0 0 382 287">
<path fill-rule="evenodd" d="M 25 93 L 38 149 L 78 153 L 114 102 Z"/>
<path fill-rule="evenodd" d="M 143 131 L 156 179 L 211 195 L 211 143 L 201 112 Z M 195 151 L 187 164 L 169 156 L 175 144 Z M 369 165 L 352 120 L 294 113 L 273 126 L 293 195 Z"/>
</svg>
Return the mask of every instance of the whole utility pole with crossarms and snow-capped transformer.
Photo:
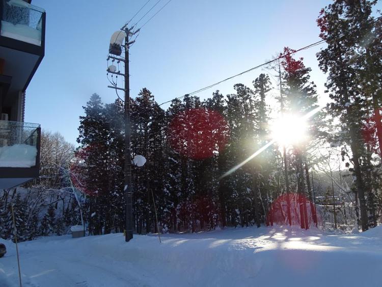
<svg viewBox="0 0 382 287">
<path fill-rule="evenodd" d="M 130 84 L 129 84 L 129 46 L 135 42 L 135 40 L 129 42 L 129 36 L 132 36 L 139 32 L 140 29 L 133 31 L 134 26 L 128 28 L 127 24 L 124 24 L 120 31 L 115 32 L 112 35 L 109 46 L 109 56 L 107 56 L 107 61 L 112 59 L 112 62 L 117 61 L 117 63 L 123 62 L 125 64 L 125 73 L 121 73 L 120 71 L 116 71 L 116 67 L 114 65 L 108 66 L 107 74 L 116 74 L 116 82 L 110 81 L 113 86 L 107 86 L 108 88 L 112 88 L 116 90 L 122 90 L 125 92 L 124 98 L 124 120 L 125 120 L 125 241 L 128 242 L 132 239 L 133 232 L 133 219 L 132 219 L 132 185 L 131 185 L 131 153 L 130 153 Z M 123 38 L 125 39 L 125 44 L 123 43 Z M 115 56 L 121 56 L 122 47 L 125 48 L 125 58 L 119 58 Z M 115 56 L 111 56 L 115 55 Z M 118 75 L 124 77 L 125 87 L 119 88 L 117 87 L 117 79 Z M 113 77 L 113 76 L 112 76 Z M 119 96 L 118 96 L 119 97 Z"/>
</svg>

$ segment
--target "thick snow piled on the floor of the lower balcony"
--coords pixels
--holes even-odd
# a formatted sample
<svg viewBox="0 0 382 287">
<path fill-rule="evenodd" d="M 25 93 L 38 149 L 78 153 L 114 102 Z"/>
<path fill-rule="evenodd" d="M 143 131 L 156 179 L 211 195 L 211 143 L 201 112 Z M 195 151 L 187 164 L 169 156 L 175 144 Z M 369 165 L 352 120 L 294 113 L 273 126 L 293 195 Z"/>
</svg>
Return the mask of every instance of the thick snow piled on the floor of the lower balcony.
<svg viewBox="0 0 382 287">
<path fill-rule="evenodd" d="M 0 147 L 0 167 L 33 167 L 37 148 L 27 144 Z"/>
</svg>

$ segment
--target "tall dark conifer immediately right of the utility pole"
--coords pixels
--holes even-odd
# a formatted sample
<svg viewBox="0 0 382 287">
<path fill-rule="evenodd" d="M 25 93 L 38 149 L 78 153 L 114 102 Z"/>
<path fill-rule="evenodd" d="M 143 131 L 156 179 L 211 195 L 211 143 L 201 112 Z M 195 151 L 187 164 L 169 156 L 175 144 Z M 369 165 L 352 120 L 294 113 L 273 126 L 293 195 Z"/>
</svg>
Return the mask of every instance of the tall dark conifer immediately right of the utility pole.
<svg viewBox="0 0 382 287">
<path fill-rule="evenodd" d="M 132 151 L 144 155 L 144 167 L 134 167 L 135 214 L 146 232 L 157 229 L 155 224 L 153 197 L 156 206 L 163 207 L 163 124 L 165 112 L 158 106 L 152 93 L 144 88 L 134 99 L 132 105 Z M 159 213 L 159 217 L 161 212 Z"/>
</svg>

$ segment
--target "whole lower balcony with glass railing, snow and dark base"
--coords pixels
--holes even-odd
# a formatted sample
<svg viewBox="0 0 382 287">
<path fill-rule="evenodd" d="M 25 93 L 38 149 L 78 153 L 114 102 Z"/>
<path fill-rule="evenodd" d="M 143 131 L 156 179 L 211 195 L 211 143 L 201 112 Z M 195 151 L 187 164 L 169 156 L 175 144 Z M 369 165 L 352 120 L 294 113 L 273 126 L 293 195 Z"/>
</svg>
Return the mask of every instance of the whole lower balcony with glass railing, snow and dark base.
<svg viewBox="0 0 382 287">
<path fill-rule="evenodd" d="M 39 124 L 0 121 L 0 189 L 8 189 L 39 176 Z"/>
</svg>

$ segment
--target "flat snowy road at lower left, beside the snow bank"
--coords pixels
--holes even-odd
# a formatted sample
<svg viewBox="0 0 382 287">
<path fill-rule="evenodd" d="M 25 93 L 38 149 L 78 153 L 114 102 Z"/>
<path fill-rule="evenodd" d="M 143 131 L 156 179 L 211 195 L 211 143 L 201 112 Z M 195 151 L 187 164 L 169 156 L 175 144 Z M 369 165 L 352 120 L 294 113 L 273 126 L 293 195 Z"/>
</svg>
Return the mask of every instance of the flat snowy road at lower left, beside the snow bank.
<svg viewBox="0 0 382 287">
<path fill-rule="evenodd" d="M 146 284 L 144 272 L 133 269 L 131 263 L 125 262 L 123 266 L 119 266 L 110 256 L 97 255 L 96 251 L 91 252 L 86 242 L 81 242 L 83 245 L 77 249 L 77 245 L 75 243 L 73 245 L 70 241 L 70 237 L 64 236 L 20 244 L 23 285 L 36 287 L 155 285 L 150 280 Z M 12 277 L 14 282 L 18 282 L 15 249 L 9 250 L 6 255 L 5 263 L 3 260 L 0 262 L 0 268 Z"/>
</svg>

